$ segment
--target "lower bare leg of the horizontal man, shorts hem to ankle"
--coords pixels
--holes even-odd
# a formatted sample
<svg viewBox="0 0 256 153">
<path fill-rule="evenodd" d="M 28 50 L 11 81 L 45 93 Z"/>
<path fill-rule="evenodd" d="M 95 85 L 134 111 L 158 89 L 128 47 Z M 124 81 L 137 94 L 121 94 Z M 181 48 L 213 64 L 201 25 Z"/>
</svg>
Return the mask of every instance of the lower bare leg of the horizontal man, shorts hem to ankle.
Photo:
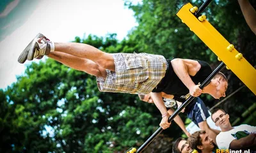
<svg viewBox="0 0 256 153">
<path fill-rule="evenodd" d="M 98 64 L 89 59 L 83 59 L 81 57 L 76 57 L 74 55 L 66 54 L 63 52 L 51 52 L 48 57 L 54 59 L 66 66 L 77 69 L 79 71 L 84 71 L 95 77 L 104 77 L 106 78 L 106 69 L 101 68 Z"/>
</svg>

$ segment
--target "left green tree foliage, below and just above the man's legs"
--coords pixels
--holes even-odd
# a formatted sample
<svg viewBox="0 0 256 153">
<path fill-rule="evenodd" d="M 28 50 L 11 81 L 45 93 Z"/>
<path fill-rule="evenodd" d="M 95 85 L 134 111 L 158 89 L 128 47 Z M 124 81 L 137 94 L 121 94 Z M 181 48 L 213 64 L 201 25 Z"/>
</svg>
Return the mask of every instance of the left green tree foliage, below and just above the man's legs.
<svg viewBox="0 0 256 153">
<path fill-rule="evenodd" d="M 108 52 L 136 48 L 130 40 L 118 42 L 116 34 L 75 41 Z M 136 95 L 99 92 L 95 77 L 52 59 L 33 62 L 17 80 L 0 92 L 3 152 L 124 151 L 159 124 L 154 105 Z"/>
</svg>

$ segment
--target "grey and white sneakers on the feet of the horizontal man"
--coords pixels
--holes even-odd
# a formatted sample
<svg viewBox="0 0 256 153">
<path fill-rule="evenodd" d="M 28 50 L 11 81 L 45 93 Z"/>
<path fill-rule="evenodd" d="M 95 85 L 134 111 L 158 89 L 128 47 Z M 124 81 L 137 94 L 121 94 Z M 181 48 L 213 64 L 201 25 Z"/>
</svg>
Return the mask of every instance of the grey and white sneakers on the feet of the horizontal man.
<svg viewBox="0 0 256 153">
<path fill-rule="evenodd" d="M 50 51 L 51 47 L 49 45 L 49 39 L 47 39 L 43 34 L 38 33 L 20 54 L 18 62 L 24 63 L 27 59 L 29 61 L 35 58 L 42 59 L 42 57 L 44 55 L 48 55 Z"/>
</svg>

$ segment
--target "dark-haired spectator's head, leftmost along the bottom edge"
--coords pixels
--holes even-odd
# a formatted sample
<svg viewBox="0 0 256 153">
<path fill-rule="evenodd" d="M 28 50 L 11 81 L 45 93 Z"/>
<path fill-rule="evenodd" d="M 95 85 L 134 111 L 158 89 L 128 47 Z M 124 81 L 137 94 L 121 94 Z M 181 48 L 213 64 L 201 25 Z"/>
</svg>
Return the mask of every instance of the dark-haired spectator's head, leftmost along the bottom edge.
<svg viewBox="0 0 256 153">
<path fill-rule="evenodd" d="M 189 153 L 192 149 L 189 147 L 187 141 L 184 138 L 178 138 L 173 143 L 172 152 L 173 153 Z"/>
</svg>

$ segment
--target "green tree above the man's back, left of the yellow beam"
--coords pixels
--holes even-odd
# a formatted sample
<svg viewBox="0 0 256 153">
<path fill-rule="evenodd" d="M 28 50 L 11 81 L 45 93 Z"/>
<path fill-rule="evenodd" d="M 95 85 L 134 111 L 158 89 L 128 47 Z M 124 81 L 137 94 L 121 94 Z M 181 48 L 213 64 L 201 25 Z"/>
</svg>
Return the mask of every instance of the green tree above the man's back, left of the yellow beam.
<svg viewBox="0 0 256 153">
<path fill-rule="evenodd" d="M 205 52 L 207 47 L 204 43 L 177 17 L 176 12 L 182 2 L 145 0 L 143 4 L 135 6 L 131 2 L 126 1 L 126 4 L 135 12 L 139 25 L 130 38 L 140 43 L 139 52 L 161 54 L 167 58 L 204 57 L 206 61 L 214 60 L 211 50 Z"/>
</svg>

